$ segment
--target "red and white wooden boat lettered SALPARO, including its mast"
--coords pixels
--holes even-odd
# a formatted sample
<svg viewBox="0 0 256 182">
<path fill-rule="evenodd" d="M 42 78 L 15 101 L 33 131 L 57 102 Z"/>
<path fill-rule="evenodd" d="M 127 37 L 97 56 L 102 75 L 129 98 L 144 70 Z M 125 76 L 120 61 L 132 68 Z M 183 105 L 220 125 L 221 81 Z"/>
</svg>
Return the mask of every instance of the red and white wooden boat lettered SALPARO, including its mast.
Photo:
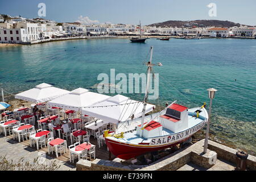
<svg viewBox="0 0 256 182">
<path fill-rule="evenodd" d="M 155 66 L 155 64 L 152 64 L 153 47 L 150 51 L 150 61 L 146 64 L 147 86 L 143 101 L 142 118 L 138 118 L 141 119 L 140 125 L 121 133 L 117 133 L 118 130 L 104 131 L 104 138 L 109 151 L 120 159 L 131 159 L 182 143 L 202 129 L 208 121 L 205 105 L 189 109 L 186 106 L 176 104 L 176 101 L 156 113 L 154 118 L 151 117 L 148 121 L 145 121 L 150 74 L 152 73 L 152 67 Z M 162 64 L 158 63 L 157 65 Z M 122 125 L 122 123 L 119 123 L 119 125 Z"/>
</svg>

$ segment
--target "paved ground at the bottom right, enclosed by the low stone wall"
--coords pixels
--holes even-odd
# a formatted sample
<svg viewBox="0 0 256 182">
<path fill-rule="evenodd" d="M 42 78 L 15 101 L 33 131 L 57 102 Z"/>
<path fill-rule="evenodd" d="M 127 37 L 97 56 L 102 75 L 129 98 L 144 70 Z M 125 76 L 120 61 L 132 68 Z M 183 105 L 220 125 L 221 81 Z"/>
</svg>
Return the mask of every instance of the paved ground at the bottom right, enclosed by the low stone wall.
<svg viewBox="0 0 256 182">
<path fill-rule="evenodd" d="M 234 166 L 234 164 L 229 163 L 226 160 L 217 159 L 216 164 L 208 169 L 189 162 L 177 169 L 177 171 L 234 171 L 235 168 L 236 166 Z"/>
</svg>

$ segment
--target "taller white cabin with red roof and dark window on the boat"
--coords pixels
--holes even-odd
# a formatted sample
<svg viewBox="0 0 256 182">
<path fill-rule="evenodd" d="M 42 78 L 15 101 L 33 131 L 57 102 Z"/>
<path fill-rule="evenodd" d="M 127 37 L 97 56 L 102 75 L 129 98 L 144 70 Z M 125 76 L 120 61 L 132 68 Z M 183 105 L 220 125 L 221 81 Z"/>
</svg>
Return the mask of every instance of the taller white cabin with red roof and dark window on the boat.
<svg viewBox="0 0 256 182">
<path fill-rule="evenodd" d="M 188 127 L 188 107 L 172 104 L 167 108 L 166 114 L 160 115 L 158 122 L 174 133 L 186 129 Z"/>
</svg>

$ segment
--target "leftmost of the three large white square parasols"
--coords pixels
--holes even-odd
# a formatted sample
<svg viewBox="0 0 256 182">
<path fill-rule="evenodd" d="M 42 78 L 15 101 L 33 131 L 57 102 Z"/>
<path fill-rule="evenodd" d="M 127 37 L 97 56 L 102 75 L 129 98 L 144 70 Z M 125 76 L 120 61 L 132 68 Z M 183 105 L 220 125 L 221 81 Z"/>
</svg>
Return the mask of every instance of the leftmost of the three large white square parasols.
<svg viewBox="0 0 256 182">
<path fill-rule="evenodd" d="M 30 102 L 47 102 L 68 93 L 68 90 L 59 89 L 52 85 L 43 83 L 36 85 L 33 89 L 16 94 L 15 98 Z"/>
</svg>

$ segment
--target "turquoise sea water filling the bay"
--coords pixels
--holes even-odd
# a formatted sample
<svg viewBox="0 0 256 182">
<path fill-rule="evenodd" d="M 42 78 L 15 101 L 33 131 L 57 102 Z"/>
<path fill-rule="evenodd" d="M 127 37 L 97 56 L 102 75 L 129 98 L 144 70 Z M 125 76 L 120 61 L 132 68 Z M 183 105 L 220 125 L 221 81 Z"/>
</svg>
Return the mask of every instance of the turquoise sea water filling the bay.
<svg viewBox="0 0 256 182">
<path fill-rule="evenodd" d="M 188 107 L 209 103 L 206 89 L 216 88 L 212 130 L 220 138 L 255 151 L 256 40 L 129 39 L 71 40 L 0 48 L 0 88 L 18 93 L 42 82 L 59 88 L 89 89 L 100 73 L 145 73 L 150 46 L 159 73 L 159 101 Z M 236 81 L 235 81 L 236 79 Z M 92 89 L 96 92 L 96 89 Z M 125 94 L 142 100 L 143 94 Z"/>
</svg>

